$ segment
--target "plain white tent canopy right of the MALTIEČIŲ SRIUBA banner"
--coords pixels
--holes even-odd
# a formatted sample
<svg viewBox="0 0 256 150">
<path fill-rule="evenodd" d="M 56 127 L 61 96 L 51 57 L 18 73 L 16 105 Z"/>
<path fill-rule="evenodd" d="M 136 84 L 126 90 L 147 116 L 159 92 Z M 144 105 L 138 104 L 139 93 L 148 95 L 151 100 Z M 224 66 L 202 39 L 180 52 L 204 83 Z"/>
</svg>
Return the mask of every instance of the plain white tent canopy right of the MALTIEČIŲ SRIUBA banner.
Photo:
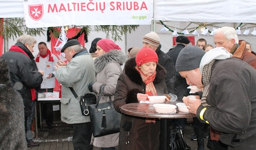
<svg viewBox="0 0 256 150">
<path fill-rule="evenodd" d="M 154 20 L 256 23 L 256 1 L 154 1 Z"/>
</svg>

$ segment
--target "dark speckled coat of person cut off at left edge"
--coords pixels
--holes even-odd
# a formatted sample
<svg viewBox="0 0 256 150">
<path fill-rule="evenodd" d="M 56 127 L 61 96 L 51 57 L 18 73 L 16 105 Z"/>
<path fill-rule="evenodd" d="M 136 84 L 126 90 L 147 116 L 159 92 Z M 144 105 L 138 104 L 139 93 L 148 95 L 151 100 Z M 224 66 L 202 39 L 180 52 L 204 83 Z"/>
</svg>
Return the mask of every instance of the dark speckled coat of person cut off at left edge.
<svg viewBox="0 0 256 150">
<path fill-rule="evenodd" d="M 9 67 L 0 60 L 0 149 L 27 149 L 23 100 L 11 86 Z"/>
</svg>

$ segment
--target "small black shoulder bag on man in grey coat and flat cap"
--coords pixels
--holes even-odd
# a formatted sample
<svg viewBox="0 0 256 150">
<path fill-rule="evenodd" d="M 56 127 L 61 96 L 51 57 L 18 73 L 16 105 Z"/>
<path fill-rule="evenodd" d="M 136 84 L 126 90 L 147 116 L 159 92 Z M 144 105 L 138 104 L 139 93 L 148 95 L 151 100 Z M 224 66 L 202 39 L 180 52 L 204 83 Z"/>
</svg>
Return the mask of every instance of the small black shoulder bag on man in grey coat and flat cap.
<svg viewBox="0 0 256 150">
<path fill-rule="evenodd" d="M 74 94 L 75 98 L 78 98 L 77 93 L 74 91 L 74 89 L 72 87 L 69 87 L 69 89 Z M 80 103 L 82 115 L 89 116 L 90 111 L 88 109 L 88 106 L 91 104 L 96 104 L 96 97 L 92 93 L 84 94 L 83 96 L 80 97 L 79 103 Z"/>
</svg>

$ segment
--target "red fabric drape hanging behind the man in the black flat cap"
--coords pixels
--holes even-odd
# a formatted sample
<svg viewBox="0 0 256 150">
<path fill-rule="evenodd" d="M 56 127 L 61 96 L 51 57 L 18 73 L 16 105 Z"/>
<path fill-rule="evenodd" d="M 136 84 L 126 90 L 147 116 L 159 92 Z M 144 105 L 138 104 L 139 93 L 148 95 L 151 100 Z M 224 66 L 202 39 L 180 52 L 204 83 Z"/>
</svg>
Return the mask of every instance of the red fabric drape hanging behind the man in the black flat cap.
<svg viewBox="0 0 256 150">
<path fill-rule="evenodd" d="M 58 28 L 58 30 L 60 30 L 60 28 Z M 77 35 L 77 33 L 80 31 L 81 29 L 75 29 L 75 28 L 71 28 L 67 31 L 67 38 L 71 38 Z M 55 54 L 55 56 L 60 59 L 60 51 L 57 51 L 54 47 L 57 43 L 58 38 L 53 37 L 53 34 L 51 33 L 51 49 L 52 49 L 52 54 Z M 81 43 L 82 46 L 84 46 L 84 33 L 81 34 L 81 36 L 79 36 L 77 38 L 77 40 Z M 58 43 L 56 46 L 58 46 L 60 43 Z M 54 91 L 60 91 L 60 84 L 58 83 L 57 79 L 55 78 L 55 88 L 53 89 Z"/>
</svg>

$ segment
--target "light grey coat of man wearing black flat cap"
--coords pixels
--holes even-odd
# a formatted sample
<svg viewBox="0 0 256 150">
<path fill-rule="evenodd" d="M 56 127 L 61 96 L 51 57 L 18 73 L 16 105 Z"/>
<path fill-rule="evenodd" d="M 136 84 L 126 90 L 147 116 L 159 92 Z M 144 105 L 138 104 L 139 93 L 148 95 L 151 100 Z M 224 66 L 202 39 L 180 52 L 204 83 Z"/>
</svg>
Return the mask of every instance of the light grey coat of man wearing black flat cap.
<svg viewBox="0 0 256 150">
<path fill-rule="evenodd" d="M 83 116 L 79 104 L 70 91 L 72 87 L 78 97 L 91 93 L 87 85 L 95 81 L 93 71 L 93 59 L 87 51 L 77 53 L 65 67 L 59 67 L 56 71 L 56 79 L 62 84 L 62 99 L 60 99 L 61 120 L 67 124 L 81 124 L 90 122 L 89 116 Z"/>
</svg>

